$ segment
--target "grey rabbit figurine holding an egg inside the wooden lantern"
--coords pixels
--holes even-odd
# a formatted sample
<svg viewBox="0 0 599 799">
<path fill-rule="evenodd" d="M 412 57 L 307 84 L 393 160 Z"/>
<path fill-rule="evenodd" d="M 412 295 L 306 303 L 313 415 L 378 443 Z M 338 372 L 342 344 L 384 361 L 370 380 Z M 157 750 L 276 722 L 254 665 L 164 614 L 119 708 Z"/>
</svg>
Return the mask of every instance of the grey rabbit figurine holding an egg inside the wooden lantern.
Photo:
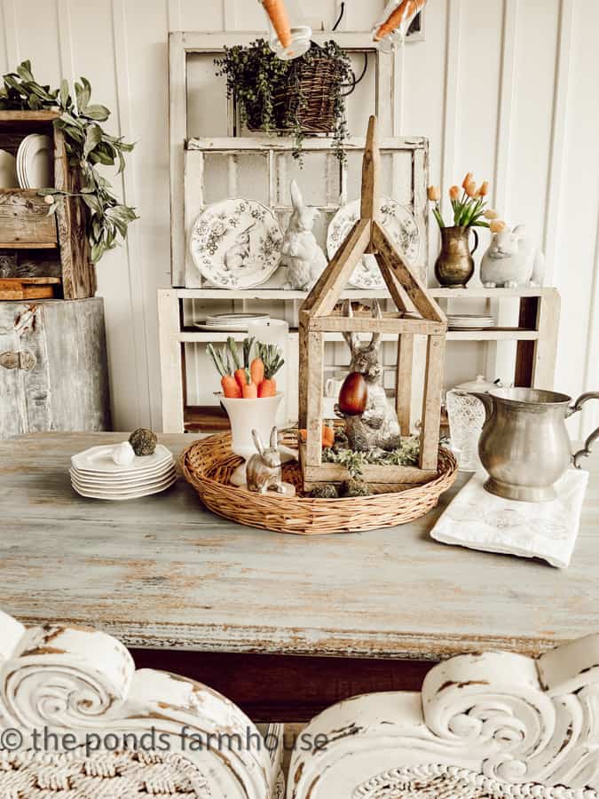
<svg viewBox="0 0 599 799">
<path fill-rule="evenodd" d="M 343 304 L 343 314 L 353 316 L 350 300 Z M 381 305 L 374 300 L 372 315 L 382 319 Z M 382 365 L 379 359 L 381 334 L 373 333 L 370 341 L 360 342 L 357 333 L 343 333 L 343 337 L 351 350 L 350 379 L 355 374 L 361 375 L 366 382 L 366 407 L 360 414 L 344 413 L 342 396 L 335 406 L 335 413 L 345 422 L 345 433 L 350 448 L 356 452 L 375 452 L 377 449 L 390 452 L 401 446 L 401 430 L 398 415 L 391 407 L 382 385 Z"/>
</svg>

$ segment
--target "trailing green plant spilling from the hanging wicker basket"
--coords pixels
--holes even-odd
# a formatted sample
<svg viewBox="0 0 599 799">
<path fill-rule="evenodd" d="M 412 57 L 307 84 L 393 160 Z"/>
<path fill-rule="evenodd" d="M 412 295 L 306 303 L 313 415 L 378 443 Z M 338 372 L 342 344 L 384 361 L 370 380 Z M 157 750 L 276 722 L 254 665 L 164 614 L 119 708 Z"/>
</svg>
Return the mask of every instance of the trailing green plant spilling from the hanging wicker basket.
<svg viewBox="0 0 599 799">
<path fill-rule="evenodd" d="M 305 136 L 302 116 L 306 107 L 302 71 L 319 59 L 333 59 L 337 67 L 336 80 L 330 86 L 335 115 L 333 147 L 339 161 L 344 162 L 343 144 L 348 130 L 343 87 L 352 82 L 353 73 L 348 54 L 338 44 L 312 44 L 300 58 L 282 61 L 264 39 L 256 39 L 246 46 L 225 47 L 224 57 L 215 64 L 217 75 L 226 77 L 227 95 L 235 99 L 241 122 L 265 133 L 289 133 L 294 139 L 294 157 L 301 162 Z M 277 102 L 281 96 L 287 100 L 284 104 Z"/>
</svg>

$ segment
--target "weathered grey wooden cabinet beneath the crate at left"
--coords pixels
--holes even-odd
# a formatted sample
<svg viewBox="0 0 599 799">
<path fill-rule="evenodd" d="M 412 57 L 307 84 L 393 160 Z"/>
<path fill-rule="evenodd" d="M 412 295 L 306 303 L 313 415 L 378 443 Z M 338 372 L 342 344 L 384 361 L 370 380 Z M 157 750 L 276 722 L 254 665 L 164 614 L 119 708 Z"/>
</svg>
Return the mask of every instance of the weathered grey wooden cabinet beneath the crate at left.
<svg viewBox="0 0 599 799">
<path fill-rule="evenodd" d="M 0 439 L 110 429 L 101 297 L 0 303 Z"/>
</svg>

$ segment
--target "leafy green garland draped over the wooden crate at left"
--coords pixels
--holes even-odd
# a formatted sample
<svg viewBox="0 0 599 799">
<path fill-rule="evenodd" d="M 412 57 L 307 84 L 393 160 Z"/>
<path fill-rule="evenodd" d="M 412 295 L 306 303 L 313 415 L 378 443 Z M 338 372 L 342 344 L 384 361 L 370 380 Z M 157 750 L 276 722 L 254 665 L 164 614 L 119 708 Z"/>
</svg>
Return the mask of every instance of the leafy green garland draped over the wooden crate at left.
<svg viewBox="0 0 599 799">
<path fill-rule="evenodd" d="M 0 88 L 0 110 L 43 110 L 59 109 L 59 117 L 54 121 L 63 132 L 69 163 L 81 170 L 82 188 L 78 193 L 46 189 L 50 213 L 57 208 L 61 197 L 81 197 L 90 210 L 88 216 L 88 238 L 91 260 L 96 263 L 106 249 L 113 249 L 117 236 L 124 240 L 127 227 L 137 219 L 135 210 L 122 202 L 112 192 L 112 186 L 99 174 L 100 164 L 114 166 L 119 164 L 118 174 L 125 168 L 125 153 L 130 153 L 132 144 L 122 137 L 110 136 L 99 123 L 110 116 L 105 106 L 91 105 L 91 84 L 82 77 L 75 82 L 75 100 L 72 98 L 66 80 L 60 88 L 51 90 L 35 81 L 30 61 L 23 61 L 16 72 L 3 75 L 4 87 Z"/>
</svg>

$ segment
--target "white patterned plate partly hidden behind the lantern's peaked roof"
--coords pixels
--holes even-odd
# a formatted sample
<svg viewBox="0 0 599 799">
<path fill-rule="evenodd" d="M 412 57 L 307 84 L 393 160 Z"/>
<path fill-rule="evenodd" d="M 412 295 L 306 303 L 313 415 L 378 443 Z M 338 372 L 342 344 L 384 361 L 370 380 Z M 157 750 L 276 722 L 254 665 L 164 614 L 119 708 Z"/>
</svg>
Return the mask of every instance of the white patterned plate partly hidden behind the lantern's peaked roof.
<svg viewBox="0 0 599 799">
<path fill-rule="evenodd" d="M 407 265 L 415 266 L 418 263 L 418 253 L 420 252 L 420 232 L 414 216 L 396 200 L 382 199 L 380 210 L 382 225 L 395 242 L 400 255 L 406 259 Z M 328 225 L 327 253 L 329 258 L 335 256 L 353 225 L 358 222 L 359 212 L 360 201 L 354 200 L 348 202 L 335 214 L 331 224 Z M 362 258 L 348 282 L 356 289 L 385 288 L 376 259 L 369 255 Z"/>
</svg>

